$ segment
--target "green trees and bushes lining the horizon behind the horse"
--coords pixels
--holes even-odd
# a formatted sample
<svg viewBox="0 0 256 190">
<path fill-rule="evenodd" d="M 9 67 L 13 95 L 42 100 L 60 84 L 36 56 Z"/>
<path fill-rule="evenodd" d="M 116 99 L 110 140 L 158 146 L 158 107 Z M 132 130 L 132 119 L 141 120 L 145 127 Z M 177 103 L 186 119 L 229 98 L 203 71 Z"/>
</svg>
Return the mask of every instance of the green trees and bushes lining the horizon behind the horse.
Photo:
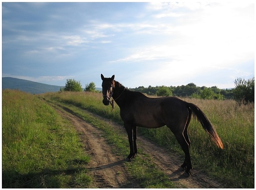
<svg viewBox="0 0 256 190">
<path fill-rule="evenodd" d="M 198 99 L 235 99 L 237 102 L 246 104 L 247 102 L 254 102 L 254 77 L 245 80 L 244 78 L 237 78 L 235 81 L 235 88 L 219 89 L 217 86 L 210 88 L 206 86 L 196 86 L 194 83 L 181 86 L 139 86 L 136 88 L 129 88 L 133 91 L 138 91 L 151 96 L 177 96 L 177 97 L 192 97 Z M 75 79 L 67 79 L 65 87 L 60 88 L 62 91 L 83 91 L 80 81 Z M 84 91 L 96 92 L 96 85 L 94 82 L 87 83 Z M 99 91 L 98 91 L 99 92 Z"/>
</svg>

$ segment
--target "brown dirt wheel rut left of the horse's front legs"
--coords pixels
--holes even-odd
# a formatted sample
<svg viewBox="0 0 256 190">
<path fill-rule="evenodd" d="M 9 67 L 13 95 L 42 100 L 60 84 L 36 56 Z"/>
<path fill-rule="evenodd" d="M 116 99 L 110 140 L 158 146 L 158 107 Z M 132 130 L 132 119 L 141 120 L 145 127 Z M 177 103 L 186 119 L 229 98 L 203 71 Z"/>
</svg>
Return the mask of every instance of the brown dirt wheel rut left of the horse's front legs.
<svg viewBox="0 0 256 190">
<path fill-rule="evenodd" d="M 125 159 L 113 155 L 110 145 L 102 137 L 102 131 L 70 112 L 55 109 L 75 126 L 84 151 L 91 157 L 87 169 L 93 176 L 93 182 L 89 188 L 141 188 L 126 171 Z"/>
</svg>

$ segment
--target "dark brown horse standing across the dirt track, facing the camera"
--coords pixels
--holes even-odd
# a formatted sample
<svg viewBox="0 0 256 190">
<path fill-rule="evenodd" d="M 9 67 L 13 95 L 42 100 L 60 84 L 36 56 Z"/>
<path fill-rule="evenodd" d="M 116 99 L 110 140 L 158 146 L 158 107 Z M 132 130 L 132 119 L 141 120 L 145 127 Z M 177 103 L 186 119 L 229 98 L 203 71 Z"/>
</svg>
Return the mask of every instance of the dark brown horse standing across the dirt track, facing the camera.
<svg viewBox="0 0 256 190">
<path fill-rule="evenodd" d="M 130 154 L 126 161 L 131 161 L 137 153 L 137 126 L 145 128 L 159 128 L 167 126 L 175 135 L 178 143 L 185 153 L 185 161 L 181 168 L 185 175 L 191 174 L 190 139 L 188 138 L 188 125 L 191 116 L 197 117 L 204 130 L 219 148 L 223 144 L 204 113 L 192 103 L 182 101 L 176 97 L 150 98 L 136 91 L 131 91 L 111 78 L 105 78 L 101 74 L 103 104 L 112 105 L 110 97 L 120 107 L 120 116 L 123 120 L 130 144 Z"/>
</svg>

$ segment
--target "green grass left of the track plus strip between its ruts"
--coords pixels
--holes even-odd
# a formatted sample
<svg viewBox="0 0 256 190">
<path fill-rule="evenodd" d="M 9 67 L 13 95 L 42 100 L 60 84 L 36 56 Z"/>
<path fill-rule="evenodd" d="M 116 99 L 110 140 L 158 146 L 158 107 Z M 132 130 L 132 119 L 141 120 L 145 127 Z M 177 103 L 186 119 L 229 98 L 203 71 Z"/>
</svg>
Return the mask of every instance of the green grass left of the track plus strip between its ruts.
<svg viewBox="0 0 256 190">
<path fill-rule="evenodd" d="M 90 187 L 93 178 L 86 169 L 89 156 L 83 152 L 75 129 L 50 106 L 54 100 L 46 103 L 42 101 L 42 96 L 48 100 L 45 95 L 38 98 L 16 90 L 2 92 L 2 187 Z M 128 154 L 125 134 L 120 135 L 120 131 L 79 107 L 65 107 L 105 131 L 104 138 L 115 153 Z M 134 170 L 134 167 L 137 169 Z M 126 168 L 141 187 L 177 188 L 150 163 L 146 154 L 126 164 Z"/>
</svg>

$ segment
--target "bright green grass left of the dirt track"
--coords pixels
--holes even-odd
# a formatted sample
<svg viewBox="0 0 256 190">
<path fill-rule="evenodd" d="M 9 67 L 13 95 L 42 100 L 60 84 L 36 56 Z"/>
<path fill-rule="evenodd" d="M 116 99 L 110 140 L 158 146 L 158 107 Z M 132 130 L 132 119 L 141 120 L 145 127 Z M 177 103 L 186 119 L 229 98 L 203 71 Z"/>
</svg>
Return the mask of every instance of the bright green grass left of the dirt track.
<svg viewBox="0 0 256 190">
<path fill-rule="evenodd" d="M 88 162 L 69 121 L 36 96 L 2 91 L 3 188 L 86 188 Z"/>
</svg>

